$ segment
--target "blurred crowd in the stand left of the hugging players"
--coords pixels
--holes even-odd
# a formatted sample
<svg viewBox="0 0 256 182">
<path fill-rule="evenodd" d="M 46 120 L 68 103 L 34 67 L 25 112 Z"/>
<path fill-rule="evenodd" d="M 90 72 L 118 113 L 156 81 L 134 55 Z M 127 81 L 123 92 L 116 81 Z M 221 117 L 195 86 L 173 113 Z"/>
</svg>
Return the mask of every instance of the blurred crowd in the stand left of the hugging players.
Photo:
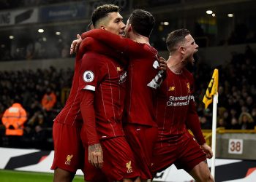
<svg viewBox="0 0 256 182">
<path fill-rule="evenodd" d="M 22 140 L 15 145 L 52 149 L 53 119 L 64 105 L 65 98 L 61 98 L 61 93 L 71 87 L 72 74 L 70 68 L 56 70 L 53 67 L 37 71 L 0 71 L 0 118 L 14 100 L 20 100 L 27 113 Z M 8 146 L 10 143 L 4 138 L 4 130 L 1 124 L 0 143 Z"/>
</svg>

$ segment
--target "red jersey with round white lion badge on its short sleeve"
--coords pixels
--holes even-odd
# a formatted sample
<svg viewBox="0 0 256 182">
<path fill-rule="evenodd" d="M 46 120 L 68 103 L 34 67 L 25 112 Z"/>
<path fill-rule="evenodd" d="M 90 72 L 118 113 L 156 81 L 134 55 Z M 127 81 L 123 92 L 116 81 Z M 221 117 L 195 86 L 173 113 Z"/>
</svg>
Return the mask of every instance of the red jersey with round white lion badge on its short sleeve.
<svg viewBox="0 0 256 182">
<path fill-rule="evenodd" d="M 83 55 L 79 89 L 95 92 L 94 111 L 99 139 L 124 135 L 121 116 L 126 78 L 127 71 L 113 58 L 91 51 Z"/>
</svg>

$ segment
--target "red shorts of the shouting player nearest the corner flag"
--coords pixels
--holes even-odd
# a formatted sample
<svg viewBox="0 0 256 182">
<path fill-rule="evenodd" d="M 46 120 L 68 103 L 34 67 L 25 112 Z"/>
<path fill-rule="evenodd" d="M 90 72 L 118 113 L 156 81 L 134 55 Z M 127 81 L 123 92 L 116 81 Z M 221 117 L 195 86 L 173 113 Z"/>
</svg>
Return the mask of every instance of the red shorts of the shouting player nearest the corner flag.
<svg viewBox="0 0 256 182">
<path fill-rule="evenodd" d="M 173 164 L 178 169 L 184 169 L 189 173 L 196 165 L 206 160 L 206 153 L 195 141 L 195 138 L 189 135 L 188 138 L 176 143 L 157 142 L 153 160 L 153 173 L 161 172 Z"/>
</svg>

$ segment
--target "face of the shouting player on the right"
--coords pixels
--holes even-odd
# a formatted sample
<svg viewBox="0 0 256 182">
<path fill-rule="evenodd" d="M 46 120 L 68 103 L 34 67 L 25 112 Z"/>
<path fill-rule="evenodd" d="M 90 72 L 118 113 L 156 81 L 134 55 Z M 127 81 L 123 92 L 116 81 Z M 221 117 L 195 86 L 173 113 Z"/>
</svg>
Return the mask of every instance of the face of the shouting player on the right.
<svg viewBox="0 0 256 182">
<path fill-rule="evenodd" d="M 185 60 L 187 60 L 187 63 L 194 64 L 195 59 L 193 55 L 197 52 L 198 45 L 195 44 L 195 40 L 193 37 L 189 34 L 185 36 L 186 43 L 185 43 L 185 48 L 186 48 L 186 55 L 185 55 Z"/>
</svg>

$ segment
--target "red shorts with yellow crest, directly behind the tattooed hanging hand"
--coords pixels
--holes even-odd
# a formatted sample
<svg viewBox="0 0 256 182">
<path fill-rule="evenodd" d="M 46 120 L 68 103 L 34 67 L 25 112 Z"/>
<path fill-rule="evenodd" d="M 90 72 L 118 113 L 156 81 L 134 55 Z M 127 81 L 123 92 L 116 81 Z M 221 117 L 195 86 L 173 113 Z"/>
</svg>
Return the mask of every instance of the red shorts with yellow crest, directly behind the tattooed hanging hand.
<svg viewBox="0 0 256 182">
<path fill-rule="evenodd" d="M 86 147 L 83 169 L 86 181 L 121 181 L 123 178 L 137 178 L 140 176 L 132 150 L 123 136 L 100 141 L 100 144 L 104 161 L 100 170 L 89 164 L 88 147 Z"/>
</svg>

